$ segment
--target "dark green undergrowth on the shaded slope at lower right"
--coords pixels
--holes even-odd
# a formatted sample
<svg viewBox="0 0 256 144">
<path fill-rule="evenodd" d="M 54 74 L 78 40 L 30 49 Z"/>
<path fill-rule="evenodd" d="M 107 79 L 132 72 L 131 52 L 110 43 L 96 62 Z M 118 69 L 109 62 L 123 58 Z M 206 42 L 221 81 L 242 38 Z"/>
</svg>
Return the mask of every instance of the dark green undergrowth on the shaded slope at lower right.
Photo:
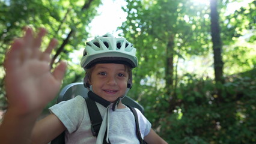
<svg viewBox="0 0 256 144">
<path fill-rule="evenodd" d="M 255 143 L 255 76 L 226 78 L 222 101 L 211 79 L 185 77 L 174 110 L 166 112 L 166 102 L 148 110 L 152 119 L 162 111 L 153 124 L 169 143 Z"/>
</svg>

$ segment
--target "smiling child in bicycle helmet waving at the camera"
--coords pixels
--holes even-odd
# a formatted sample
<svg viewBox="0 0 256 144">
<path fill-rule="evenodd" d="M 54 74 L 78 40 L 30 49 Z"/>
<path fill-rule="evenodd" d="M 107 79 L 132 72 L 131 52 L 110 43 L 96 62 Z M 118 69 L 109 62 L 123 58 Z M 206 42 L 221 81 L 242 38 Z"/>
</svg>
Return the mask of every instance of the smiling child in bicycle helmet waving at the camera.
<svg viewBox="0 0 256 144">
<path fill-rule="evenodd" d="M 25 35 L 11 45 L 4 62 L 9 107 L 0 125 L 1 143 L 48 143 L 63 131 L 66 143 L 139 143 L 133 113 L 121 103 L 132 86 L 132 68 L 138 65 L 132 44 L 107 34 L 85 47 L 81 66 L 87 71 L 84 82 L 91 91 L 88 96 L 109 103 L 105 107 L 96 101 L 103 122 L 99 135 L 94 137 L 87 104 L 79 95 L 50 107 L 52 114 L 35 122 L 58 93 L 67 66 L 61 62 L 51 72 L 49 55 L 56 40 L 41 52 L 41 38 L 46 30 L 40 29 L 35 38 L 32 33 L 31 28 L 26 28 Z M 142 113 L 138 109 L 136 112 L 145 142 L 166 143 Z"/>
</svg>

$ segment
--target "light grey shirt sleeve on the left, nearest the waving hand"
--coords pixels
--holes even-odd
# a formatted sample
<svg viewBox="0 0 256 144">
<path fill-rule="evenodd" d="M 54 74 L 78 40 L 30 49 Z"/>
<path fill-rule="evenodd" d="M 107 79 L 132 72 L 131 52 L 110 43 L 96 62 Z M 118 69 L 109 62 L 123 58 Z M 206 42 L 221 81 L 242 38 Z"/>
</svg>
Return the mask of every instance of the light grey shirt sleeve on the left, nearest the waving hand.
<svg viewBox="0 0 256 144">
<path fill-rule="evenodd" d="M 85 100 L 81 96 L 76 96 L 68 101 L 61 101 L 50 107 L 50 113 L 53 113 L 64 124 L 69 133 L 76 131 L 84 119 Z"/>
</svg>

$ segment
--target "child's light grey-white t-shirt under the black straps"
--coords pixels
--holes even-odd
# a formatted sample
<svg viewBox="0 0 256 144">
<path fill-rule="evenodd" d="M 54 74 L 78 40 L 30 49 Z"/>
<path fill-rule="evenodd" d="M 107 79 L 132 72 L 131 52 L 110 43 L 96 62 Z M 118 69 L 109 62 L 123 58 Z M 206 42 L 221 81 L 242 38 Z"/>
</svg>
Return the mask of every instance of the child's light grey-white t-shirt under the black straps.
<svg viewBox="0 0 256 144">
<path fill-rule="evenodd" d="M 96 102 L 100 114 L 105 115 L 106 108 Z M 91 133 L 91 121 L 85 99 L 77 96 L 69 101 L 62 101 L 49 108 L 65 125 L 66 143 L 96 143 L 96 137 Z M 151 124 L 142 113 L 136 109 L 142 138 L 150 132 Z M 136 125 L 133 113 L 128 107 L 110 110 L 109 141 L 114 143 L 139 143 L 136 136 Z"/>
</svg>

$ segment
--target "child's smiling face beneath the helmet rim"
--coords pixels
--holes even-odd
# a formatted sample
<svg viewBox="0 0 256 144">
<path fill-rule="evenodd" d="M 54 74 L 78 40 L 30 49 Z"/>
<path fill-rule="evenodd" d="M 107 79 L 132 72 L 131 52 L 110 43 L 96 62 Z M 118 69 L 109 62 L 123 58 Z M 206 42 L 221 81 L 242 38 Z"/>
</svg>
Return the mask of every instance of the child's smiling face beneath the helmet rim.
<svg viewBox="0 0 256 144">
<path fill-rule="evenodd" d="M 91 73 L 93 92 L 114 102 L 126 92 L 129 74 L 123 64 L 96 64 Z"/>
</svg>

